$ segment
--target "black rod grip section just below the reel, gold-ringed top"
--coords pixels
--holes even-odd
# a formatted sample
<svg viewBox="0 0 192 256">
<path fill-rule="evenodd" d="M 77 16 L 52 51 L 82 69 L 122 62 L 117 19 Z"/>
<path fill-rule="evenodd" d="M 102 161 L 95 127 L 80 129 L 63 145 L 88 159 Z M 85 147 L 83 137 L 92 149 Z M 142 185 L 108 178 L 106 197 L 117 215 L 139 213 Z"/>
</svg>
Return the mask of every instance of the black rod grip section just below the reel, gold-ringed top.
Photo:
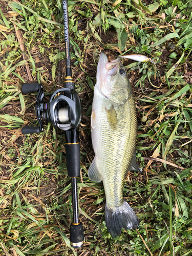
<svg viewBox="0 0 192 256">
<path fill-rule="evenodd" d="M 80 176 L 80 144 L 66 143 L 66 161 L 69 177 Z"/>
</svg>

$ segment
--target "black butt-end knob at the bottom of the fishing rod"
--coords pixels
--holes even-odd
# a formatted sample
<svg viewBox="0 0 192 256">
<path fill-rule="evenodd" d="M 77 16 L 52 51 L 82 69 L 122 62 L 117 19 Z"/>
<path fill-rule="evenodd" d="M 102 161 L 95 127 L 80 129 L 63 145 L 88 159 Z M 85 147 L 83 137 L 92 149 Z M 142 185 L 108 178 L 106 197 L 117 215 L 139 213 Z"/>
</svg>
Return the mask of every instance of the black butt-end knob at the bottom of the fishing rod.
<svg viewBox="0 0 192 256">
<path fill-rule="evenodd" d="M 79 248 L 84 244 L 84 234 L 82 223 L 71 223 L 70 226 L 70 244 L 73 248 Z"/>
</svg>

